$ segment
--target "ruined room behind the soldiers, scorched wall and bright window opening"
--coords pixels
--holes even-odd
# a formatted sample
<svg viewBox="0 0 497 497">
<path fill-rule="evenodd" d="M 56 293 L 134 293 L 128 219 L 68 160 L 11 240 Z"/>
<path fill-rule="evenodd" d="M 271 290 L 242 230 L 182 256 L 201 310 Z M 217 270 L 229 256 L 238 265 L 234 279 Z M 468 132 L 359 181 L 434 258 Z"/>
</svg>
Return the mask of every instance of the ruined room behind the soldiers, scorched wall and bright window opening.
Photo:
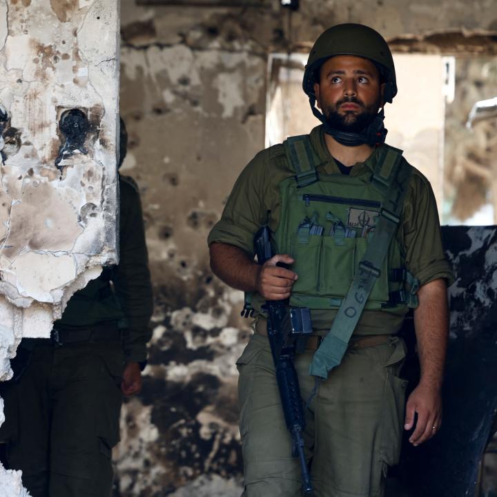
<svg viewBox="0 0 497 497">
<path fill-rule="evenodd" d="M 429 177 L 442 224 L 497 224 L 494 0 L 121 0 L 121 173 L 142 196 L 155 312 L 142 393 L 121 413 L 113 497 L 241 494 L 235 361 L 251 329 L 242 293 L 209 268 L 206 237 L 253 155 L 317 124 L 303 67 L 342 22 L 390 43 L 402 77 L 387 142 Z M 497 496 L 495 446 L 480 497 Z"/>
</svg>

